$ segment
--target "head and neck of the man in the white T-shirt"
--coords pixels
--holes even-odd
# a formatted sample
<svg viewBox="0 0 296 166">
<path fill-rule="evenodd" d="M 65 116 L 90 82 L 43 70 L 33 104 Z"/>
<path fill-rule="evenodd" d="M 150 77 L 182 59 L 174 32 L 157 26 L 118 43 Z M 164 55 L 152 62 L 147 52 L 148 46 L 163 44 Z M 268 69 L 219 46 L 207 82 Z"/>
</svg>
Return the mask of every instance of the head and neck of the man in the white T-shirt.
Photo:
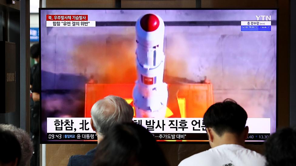
<svg viewBox="0 0 296 166">
<path fill-rule="evenodd" d="M 244 145 L 249 128 L 247 112 L 232 99 L 210 106 L 204 114 L 204 125 L 211 147 L 222 144 Z"/>
</svg>

